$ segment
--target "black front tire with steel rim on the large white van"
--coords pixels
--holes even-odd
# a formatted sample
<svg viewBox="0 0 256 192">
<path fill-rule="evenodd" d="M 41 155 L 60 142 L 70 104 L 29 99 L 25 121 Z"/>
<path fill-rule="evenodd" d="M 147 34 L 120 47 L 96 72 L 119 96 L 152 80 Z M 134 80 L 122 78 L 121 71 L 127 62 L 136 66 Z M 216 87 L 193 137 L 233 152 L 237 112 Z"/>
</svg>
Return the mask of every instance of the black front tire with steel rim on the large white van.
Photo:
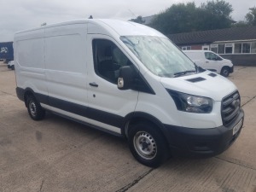
<svg viewBox="0 0 256 192">
<path fill-rule="evenodd" d="M 166 139 L 159 127 L 148 123 L 133 125 L 128 143 L 134 158 L 144 166 L 158 167 L 169 157 Z"/>
</svg>

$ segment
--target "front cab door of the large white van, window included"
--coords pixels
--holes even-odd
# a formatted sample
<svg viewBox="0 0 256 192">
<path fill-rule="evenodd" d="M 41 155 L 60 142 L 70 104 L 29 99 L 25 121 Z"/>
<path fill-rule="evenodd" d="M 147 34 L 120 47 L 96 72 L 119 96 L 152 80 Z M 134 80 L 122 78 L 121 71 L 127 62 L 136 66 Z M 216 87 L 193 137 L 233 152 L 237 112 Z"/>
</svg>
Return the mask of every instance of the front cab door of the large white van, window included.
<svg viewBox="0 0 256 192">
<path fill-rule="evenodd" d="M 113 39 L 88 35 L 88 112 L 95 125 L 121 133 L 125 115 L 137 104 L 137 90 L 119 90 L 119 68 L 133 65 Z"/>
</svg>

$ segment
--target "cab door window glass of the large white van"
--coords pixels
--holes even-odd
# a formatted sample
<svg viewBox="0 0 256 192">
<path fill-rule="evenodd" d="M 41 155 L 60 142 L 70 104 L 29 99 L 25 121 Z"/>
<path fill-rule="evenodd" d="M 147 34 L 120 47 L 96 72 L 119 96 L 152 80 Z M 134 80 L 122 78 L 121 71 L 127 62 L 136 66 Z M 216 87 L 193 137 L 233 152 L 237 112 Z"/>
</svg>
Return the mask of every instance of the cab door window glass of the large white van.
<svg viewBox="0 0 256 192">
<path fill-rule="evenodd" d="M 113 42 L 107 39 L 94 39 L 92 44 L 96 74 L 102 79 L 117 84 L 119 68 L 131 65 L 131 61 Z"/>
</svg>

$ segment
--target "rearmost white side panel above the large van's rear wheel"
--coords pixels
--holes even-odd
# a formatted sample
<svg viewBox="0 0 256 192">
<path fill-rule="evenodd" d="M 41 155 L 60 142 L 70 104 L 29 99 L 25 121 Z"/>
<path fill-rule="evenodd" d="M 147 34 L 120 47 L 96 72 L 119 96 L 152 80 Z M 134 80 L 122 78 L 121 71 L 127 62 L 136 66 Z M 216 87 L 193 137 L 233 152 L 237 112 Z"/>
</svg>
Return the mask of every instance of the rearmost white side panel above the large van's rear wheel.
<svg viewBox="0 0 256 192">
<path fill-rule="evenodd" d="M 45 84 L 44 29 L 18 33 L 15 36 L 15 73 L 17 87 L 31 88 L 48 95 Z"/>
</svg>

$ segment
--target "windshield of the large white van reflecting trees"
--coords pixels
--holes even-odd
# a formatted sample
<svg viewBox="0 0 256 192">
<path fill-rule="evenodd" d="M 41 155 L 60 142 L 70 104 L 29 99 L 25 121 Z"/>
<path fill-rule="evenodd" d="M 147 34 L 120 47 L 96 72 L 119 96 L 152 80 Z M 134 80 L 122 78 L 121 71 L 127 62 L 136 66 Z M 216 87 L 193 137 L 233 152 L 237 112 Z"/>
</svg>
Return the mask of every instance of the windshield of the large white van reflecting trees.
<svg viewBox="0 0 256 192">
<path fill-rule="evenodd" d="M 195 64 L 168 38 L 122 36 L 120 39 L 155 75 L 174 78 L 195 73 Z"/>
</svg>

